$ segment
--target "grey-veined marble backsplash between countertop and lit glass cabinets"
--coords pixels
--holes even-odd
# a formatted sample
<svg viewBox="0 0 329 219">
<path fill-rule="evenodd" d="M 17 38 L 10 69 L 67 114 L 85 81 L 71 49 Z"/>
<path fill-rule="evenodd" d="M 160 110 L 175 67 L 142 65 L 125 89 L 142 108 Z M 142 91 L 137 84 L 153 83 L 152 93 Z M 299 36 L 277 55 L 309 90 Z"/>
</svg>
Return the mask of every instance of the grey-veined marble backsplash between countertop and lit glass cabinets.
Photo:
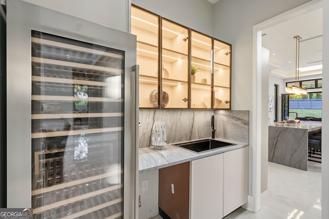
<svg viewBox="0 0 329 219">
<path fill-rule="evenodd" d="M 165 122 L 167 144 L 211 137 L 210 117 L 215 116 L 215 137 L 249 143 L 248 110 L 139 110 L 139 148 L 150 147 L 154 122 Z"/>
</svg>

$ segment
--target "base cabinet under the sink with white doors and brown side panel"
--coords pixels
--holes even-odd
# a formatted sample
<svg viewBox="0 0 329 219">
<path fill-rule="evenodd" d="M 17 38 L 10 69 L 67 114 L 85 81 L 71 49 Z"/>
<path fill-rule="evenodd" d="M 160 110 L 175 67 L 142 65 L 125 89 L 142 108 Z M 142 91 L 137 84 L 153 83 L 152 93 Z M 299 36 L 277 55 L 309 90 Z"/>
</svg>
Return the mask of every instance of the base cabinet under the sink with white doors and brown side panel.
<svg viewBox="0 0 329 219">
<path fill-rule="evenodd" d="M 239 208 L 248 198 L 248 148 L 159 169 L 159 207 L 190 219 L 220 219 Z"/>
</svg>

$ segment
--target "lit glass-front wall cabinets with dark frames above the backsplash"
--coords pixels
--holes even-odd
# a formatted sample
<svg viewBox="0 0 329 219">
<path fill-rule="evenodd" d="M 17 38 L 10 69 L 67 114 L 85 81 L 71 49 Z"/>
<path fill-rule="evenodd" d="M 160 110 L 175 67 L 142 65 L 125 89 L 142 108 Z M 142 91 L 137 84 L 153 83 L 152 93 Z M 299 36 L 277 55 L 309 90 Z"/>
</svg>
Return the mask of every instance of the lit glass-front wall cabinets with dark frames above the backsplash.
<svg viewBox="0 0 329 219">
<path fill-rule="evenodd" d="M 132 33 L 137 35 L 140 108 L 231 108 L 230 44 L 136 6 L 132 7 Z M 191 66 L 198 69 L 195 75 Z M 150 101 L 155 91 L 161 100 L 158 105 Z M 166 93 L 165 106 L 162 95 Z"/>
</svg>

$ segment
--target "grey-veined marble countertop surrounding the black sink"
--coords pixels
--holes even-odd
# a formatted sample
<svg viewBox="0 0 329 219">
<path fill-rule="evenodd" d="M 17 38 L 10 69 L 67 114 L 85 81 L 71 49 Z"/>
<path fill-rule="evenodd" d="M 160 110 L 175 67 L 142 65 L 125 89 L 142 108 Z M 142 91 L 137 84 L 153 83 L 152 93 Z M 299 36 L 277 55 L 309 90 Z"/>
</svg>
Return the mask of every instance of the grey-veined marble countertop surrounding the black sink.
<svg viewBox="0 0 329 219">
<path fill-rule="evenodd" d="M 176 164 L 181 164 L 199 158 L 224 153 L 227 151 L 239 149 L 248 146 L 249 144 L 229 141 L 222 138 L 216 138 L 223 142 L 236 144 L 233 146 L 223 147 L 206 151 L 202 153 L 192 152 L 190 150 L 176 147 L 173 145 L 165 145 L 162 150 L 156 150 L 154 147 L 140 148 L 139 149 L 139 172 L 147 172 L 163 167 L 169 167 Z"/>
</svg>

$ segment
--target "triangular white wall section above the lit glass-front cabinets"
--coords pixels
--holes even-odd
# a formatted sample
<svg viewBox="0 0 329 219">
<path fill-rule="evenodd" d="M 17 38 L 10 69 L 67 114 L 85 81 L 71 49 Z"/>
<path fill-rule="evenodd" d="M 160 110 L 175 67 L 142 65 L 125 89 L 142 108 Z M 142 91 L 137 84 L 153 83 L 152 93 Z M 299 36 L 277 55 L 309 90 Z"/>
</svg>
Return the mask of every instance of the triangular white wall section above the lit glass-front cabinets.
<svg viewBox="0 0 329 219">
<path fill-rule="evenodd" d="M 180 25 L 213 35 L 213 4 L 206 0 L 132 0 L 132 4 Z"/>
</svg>

